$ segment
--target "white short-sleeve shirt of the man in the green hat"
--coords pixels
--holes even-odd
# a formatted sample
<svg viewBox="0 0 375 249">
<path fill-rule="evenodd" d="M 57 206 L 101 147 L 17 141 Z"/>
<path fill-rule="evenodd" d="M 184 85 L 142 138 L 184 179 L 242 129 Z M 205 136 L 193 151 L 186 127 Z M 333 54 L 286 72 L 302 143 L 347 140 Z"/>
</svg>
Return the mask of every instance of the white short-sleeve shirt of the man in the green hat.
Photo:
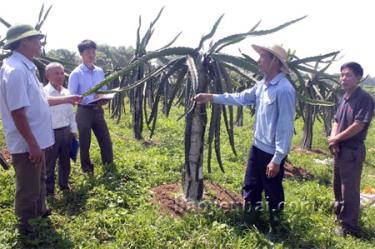
<svg viewBox="0 0 375 249">
<path fill-rule="evenodd" d="M 13 52 L 0 70 L 0 110 L 3 132 L 11 154 L 25 153 L 29 147 L 16 128 L 11 112 L 25 108 L 26 117 L 41 149 L 54 144 L 51 114 L 36 66 L 24 55 Z"/>
</svg>

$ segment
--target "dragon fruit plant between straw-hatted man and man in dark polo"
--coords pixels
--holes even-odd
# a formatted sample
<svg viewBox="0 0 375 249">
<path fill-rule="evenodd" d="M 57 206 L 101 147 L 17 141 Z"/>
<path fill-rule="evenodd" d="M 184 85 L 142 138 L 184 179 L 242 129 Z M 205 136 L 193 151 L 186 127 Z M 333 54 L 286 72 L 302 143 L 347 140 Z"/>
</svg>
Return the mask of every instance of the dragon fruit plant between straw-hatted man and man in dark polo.
<svg viewBox="0 0 375 249">
<path fill-rule="evenodd" d="M 330 129 L 333 112 L 339 99 L 340 85 L 335 75 L 326 70 L 338 52 L 304 59 L 291 55 L 289 66 L 294 72 L 297 90 L 297 114 L 304 121 L 300 143 L 302 150 L 311 150 L 315 119 L 323 120 L 326 133 Z M 313 65 L 310 65 L 313 64 Z M 323 65 L 323 66 L 322 66 Z"/>
</svg>

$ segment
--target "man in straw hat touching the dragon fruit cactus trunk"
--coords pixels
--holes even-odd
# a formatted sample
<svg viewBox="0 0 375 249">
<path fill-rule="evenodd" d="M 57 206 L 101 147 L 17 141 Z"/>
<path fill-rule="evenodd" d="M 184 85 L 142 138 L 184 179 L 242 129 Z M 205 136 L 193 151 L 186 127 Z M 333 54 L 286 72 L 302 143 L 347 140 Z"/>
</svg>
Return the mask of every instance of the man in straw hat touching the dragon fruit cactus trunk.
<svg viewBox="0 0 375 249">
<path fill-rule="evenodd" d="M 252 46 L 260 55 L 258 67 L 263 79 L 240 93 L 195 96 L 198 104 L 213 102 L 226 105 L 255 105 L 254 141 L 242 187 L 245 199 L 244 222 L 253 225 L 262 209 L 265 191 L 270 213 L 271 234 L 279 225 L 284 208 L 282 180 L 284 163 L 294 131 L 295 90 L 286 77 L 287 54 L 279 45 Z"/>
</svg>

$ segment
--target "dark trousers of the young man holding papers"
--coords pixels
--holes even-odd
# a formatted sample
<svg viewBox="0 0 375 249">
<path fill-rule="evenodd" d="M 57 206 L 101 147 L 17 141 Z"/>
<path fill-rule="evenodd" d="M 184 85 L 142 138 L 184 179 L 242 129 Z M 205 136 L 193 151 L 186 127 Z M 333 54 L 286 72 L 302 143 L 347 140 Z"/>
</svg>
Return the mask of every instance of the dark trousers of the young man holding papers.
<svg viewBox="0 0 375 249">
<path fill-rule="evenodd" d="M 77 126 L 79 131 L 80 156 L 82 170 L 93 171 L 90 161 L 91 129 L 99 143 L 103 164 L 113 162 L 112 141 L 100 106 L 78 106 Z"/>
</svg>

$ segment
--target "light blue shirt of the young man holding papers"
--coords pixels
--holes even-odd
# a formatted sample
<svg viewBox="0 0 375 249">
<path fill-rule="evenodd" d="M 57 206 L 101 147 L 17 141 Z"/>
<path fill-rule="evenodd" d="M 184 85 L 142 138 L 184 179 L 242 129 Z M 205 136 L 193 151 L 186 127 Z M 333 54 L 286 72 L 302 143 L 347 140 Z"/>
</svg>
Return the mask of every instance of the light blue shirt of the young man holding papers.
<svg viewBox="0 0 375 249">
<path fill-rule="evenodd" d="M 94 66 L 93 69 L 89 69 L 85 64 L 80 64 L 69 76 L 68 89 L 73 95 L 82 95 L 103 81 L 103 79 L 104 72 L 100 67 Z M 106 90 L 107 87 L 103 86 L 101 89 Z M 80 104 L 87 105 L 94 98 L 95 93 L 90 94 L 84 97 Z"/>
</svg>

